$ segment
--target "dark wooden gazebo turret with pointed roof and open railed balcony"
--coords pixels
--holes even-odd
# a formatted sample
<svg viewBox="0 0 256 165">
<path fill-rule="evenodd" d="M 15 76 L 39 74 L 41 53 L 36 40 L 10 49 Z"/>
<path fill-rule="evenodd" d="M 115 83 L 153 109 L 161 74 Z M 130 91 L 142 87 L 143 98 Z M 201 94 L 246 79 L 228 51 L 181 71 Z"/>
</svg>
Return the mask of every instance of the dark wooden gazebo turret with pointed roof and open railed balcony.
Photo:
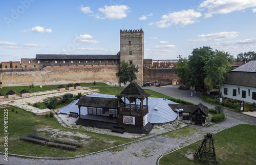
<svg viewBox="0 0 256 165">
<path fill-rule="evenodd" d="M 140 88 L 136 82 L 132 81 L 120 94 L 116 95 L 118 98 L 117 123 L 139 127 L 144 127 L 149 123 L 147 97 L 150 95 Z M 120 101 L 122 97 L 124 97 L 124 103 Z M 126 102 L 126 99 L 129 103 Z M 140 100 L 138 104 L 137 99 Z M 146 105 L 143 105 L 144 99 L 146 99 Z"/>
</svg>

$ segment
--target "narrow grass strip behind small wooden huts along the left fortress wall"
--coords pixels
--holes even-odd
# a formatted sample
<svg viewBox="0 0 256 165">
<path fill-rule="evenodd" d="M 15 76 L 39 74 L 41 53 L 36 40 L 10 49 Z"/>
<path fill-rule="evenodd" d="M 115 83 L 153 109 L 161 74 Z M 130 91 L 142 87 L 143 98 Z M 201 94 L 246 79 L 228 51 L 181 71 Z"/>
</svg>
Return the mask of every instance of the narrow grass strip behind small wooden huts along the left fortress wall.
<svg viewBox="0 0 256 165">
<path fill-rule="evenodd" d="M 96 82 L 96 85 L 93 84 L 93 82 L 90 83 L 79 83 L 82 87 L 94 87 L 94 86 L 108 86 L 103 82 Z M 59 84 L 60 85 L 60 84 Z M 39 91 L 47 91 L 47 90 L 57 90 L 57 87 L 59 85 L 52 85 L 52 86 L 34 86 L 34 88 L 29 89 L 29 86 L 18 86 L 18 87 L 3 87 L 3 89 L 0 89 L 0 93 L 3 93 L 6 95 L 6 93 L 10 90 L 14 91 L 16 94 L 19 94 L 20 91 L 23 89 L 26 89 L 30 93 L 39 92 Z M 68 84 L 62 84 L 64 87 L 66 87 Z M 74 84 L 73 84 L 74 85 Z"/>
</svg>

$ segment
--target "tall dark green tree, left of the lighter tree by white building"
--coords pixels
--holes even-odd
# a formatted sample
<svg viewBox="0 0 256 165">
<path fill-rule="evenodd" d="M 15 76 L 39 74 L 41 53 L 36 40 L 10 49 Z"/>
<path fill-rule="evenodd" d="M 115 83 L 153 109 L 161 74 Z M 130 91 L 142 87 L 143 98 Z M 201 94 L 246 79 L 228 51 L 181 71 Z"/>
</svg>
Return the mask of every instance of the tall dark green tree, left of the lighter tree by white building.
<svg viewBox="0 0 256 165">
<path fill-rule="evenodd" d="M 205 66 L 207 61 L 214 57 L 215 51 L 211 47 L 204 46 L 195 48 L 188 57 L 189 73 L 186 76 L 186 86 L 196 87 L 204 85 L 206 77 Z"/>
</svg>

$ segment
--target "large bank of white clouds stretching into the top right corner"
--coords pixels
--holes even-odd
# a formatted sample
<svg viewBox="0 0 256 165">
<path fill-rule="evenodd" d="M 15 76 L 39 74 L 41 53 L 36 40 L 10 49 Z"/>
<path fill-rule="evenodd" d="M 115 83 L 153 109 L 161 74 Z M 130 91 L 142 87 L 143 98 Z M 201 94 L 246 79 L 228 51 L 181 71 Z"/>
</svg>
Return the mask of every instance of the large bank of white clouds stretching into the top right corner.
<svg viewBox="0 0 256 165">
<path fill-rule="evenodd" d="M 184 26 L 199 22 L 198 18 L 202 16 L 209 18 L 214 14 L 228 14 L 253 7 L 256 7 L 255 0 L 206 0 L 193 9 L 162 15 L 161 20 L 151 22 L 149 25 L 155 25 L 157 28 L 167 28 L 170 25 Z M 256 8 L 253 8 L 252 12 L 256 12 Z"/>
</svg>

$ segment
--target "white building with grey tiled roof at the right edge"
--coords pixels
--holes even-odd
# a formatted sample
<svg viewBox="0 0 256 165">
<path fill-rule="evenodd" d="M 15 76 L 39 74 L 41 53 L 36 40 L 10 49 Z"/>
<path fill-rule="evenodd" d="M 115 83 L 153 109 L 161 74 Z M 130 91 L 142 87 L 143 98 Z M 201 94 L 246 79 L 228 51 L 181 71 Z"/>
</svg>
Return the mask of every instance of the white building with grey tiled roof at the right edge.
<svg viewBox="0 0 256 165">
<path fill-rule="evenodd" d="M 221 85 L 222 96 L 256 102 L 256 61 L 250 61 L 230 72 Z"/>
</svg>

